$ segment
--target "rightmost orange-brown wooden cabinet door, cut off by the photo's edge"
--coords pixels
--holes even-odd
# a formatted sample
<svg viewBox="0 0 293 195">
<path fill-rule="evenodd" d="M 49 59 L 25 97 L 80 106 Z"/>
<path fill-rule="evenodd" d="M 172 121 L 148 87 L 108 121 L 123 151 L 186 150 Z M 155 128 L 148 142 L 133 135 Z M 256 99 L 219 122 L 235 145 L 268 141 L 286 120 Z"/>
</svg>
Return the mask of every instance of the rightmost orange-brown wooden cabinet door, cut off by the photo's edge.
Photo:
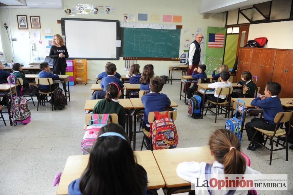
<svg viewBox="0 0 293 195">
<path fill-rule="evenodd" d="M 293 51 L 277 51 L 272 81 L 282 86 L 280 98 L 293 100 Z"/>
</svg>

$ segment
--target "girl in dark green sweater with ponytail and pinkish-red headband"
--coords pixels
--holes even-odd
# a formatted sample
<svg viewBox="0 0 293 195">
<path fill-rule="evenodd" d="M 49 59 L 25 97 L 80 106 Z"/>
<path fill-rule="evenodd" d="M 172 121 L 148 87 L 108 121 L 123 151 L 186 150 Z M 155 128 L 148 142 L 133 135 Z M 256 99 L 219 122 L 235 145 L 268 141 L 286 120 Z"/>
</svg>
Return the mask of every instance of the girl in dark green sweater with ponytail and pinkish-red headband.
<svg viewBox="0 0 293 195">
<path fill-rule="evenodd" d="M 93 108 L 93 114 L 111 114 L 116 113 L 118 115 L 118 123 L 125 129 L 125 110 L 123 106 L 119 104 L 118 98 L 121 95 L 119 85 L 116 83 L 109 83 L 106 87 L 105 99 L 98 101 Z"/>
</svg>

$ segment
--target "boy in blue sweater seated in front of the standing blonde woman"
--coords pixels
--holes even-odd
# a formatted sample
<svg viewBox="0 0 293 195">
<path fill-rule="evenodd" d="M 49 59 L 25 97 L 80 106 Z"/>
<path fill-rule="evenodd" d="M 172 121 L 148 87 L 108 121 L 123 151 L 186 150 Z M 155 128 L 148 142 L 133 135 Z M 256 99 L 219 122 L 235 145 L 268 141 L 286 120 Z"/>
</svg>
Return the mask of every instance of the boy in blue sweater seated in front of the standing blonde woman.
<svg viewBox="0 0 293 195">
<path fill-rule="evenodd" d="M 49 64 L 47 62 L 40 63 L 39 68 L 42 70 L 39 73 L 39 78 L 52 78 L 52 79 L 58 79 L 59 78 L 59 76 L 57 74 L 50 73 L 50 67 L 49 67 Z M 51 85 L 51 91 L 54 91 L 54 88 L 55 88 L 55 85 L 52 84 Z M 50 87 L 49 87 L 49 85 L 40 85 L 39 90 L 44 92 L 44 93 L 48 93 L 48 92 L 50 92 Z"/>
</svg>

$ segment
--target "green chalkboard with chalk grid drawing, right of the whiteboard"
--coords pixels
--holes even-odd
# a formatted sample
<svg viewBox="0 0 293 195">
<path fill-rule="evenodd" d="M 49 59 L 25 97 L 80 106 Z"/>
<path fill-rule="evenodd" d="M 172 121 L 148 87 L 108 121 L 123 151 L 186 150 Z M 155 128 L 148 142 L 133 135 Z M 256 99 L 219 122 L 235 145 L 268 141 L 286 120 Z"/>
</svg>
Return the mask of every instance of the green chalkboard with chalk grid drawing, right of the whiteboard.
<svg viewBox="0 0 293 195">
<path fill-rule="evenodd" d="M 180 30 L 123 28 L 124 57 L 179 56 Z"/>
</svg>

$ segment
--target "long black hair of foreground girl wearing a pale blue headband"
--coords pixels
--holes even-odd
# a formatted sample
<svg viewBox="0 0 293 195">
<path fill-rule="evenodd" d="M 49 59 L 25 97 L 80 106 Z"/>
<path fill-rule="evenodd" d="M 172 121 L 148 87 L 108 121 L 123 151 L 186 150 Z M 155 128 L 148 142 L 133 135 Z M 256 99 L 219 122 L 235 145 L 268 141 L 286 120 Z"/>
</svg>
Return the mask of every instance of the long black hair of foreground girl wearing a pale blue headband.
<svg viewBox="0 0 293 195">
<path fill-rule="evenodd" d="M 105 132 L 117 132 L 127 141 L 118 136 L 97 138 L 79 182 L 81 194 L 142 194 L 147 186 L 147 173 L 136 163 L 125 131 L 118 124 L 108 124 L 99 136 Z"/>
</svg>

